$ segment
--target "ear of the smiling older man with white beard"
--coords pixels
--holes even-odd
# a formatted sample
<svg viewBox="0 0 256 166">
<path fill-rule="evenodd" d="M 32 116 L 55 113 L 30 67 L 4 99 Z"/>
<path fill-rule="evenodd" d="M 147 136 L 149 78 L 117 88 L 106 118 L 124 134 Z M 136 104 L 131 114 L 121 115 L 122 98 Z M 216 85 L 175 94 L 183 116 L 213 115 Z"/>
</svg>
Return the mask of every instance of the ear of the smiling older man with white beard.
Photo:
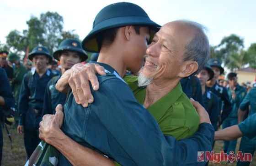
<svg viewBox="0 0 256 166">
<path fill-rule="evenodd" d="M 188 77 L 196 72 L 198 69 L 198 63 L 196 61 L 185 61 L 181 64 L 181 70 L 178 76 L 181 78 Z"/>
</svg>

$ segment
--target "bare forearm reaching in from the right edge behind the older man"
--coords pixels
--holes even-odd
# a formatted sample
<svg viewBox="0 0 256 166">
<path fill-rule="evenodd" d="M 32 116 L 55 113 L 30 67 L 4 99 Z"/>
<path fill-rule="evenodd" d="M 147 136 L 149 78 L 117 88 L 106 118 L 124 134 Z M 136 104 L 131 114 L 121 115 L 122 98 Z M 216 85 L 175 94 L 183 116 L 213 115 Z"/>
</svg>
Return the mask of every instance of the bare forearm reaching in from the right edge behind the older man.
<svg viewBox="0 0 256 166">
<path fill-rule="evenodd" d="M 220 131 L 215 131 L 214 140 L 230 141 L 243 136 L 237 125 L 227 127 Z"/>
</svg>

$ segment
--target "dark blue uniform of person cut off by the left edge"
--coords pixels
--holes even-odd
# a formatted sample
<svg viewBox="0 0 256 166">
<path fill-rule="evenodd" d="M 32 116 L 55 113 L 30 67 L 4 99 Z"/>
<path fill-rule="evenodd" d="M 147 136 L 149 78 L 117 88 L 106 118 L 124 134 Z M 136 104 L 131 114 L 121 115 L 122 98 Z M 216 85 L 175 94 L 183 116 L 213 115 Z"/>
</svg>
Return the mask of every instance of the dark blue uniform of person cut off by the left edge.
<svg viewBox="0 0 256 166">
<path fill-rule="evenodd" d="M 2 96 L 5 100 L 5 106 L 0 107 L 0 111 L 2 108 L 9 109 L 15 105 L 15 101 L 11 92 L 11 86 L 8 80 L 8 77 L 6 75 L 5 70 L 0 68 L 0 96 Z M 2 115 L 2 112 L 0 112 L 0 116 Z M 3 133 L 2 133 L 2 127 L 0 125 L 0 165 L 2 161 L 2 150 L 3 150 Z"/>
</svg>

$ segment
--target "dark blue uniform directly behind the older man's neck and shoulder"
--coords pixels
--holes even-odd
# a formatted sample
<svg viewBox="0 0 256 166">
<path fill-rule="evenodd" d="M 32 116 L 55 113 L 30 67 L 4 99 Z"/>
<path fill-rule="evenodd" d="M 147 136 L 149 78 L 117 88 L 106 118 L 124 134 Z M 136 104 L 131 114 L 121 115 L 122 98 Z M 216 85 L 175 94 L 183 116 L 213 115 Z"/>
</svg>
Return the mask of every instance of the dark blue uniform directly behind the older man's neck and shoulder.
<svg viewBox="0 0 256 166">
<path fill-rule="evenodd" d="M 188 98 L 193 98 L 203 106 L 203 96 L 200 81 L 195 75 L 181 79 L 182 91 Z"/>
</svg>

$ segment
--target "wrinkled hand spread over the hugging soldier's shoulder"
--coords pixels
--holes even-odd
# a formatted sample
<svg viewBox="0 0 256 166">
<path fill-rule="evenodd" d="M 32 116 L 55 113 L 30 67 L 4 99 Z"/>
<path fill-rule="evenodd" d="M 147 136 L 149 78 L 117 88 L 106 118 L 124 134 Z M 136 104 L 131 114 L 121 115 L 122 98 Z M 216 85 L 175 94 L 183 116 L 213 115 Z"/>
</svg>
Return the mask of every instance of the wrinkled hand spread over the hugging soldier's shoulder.
<svg viewBox="0 0 256 166">
<path fill-rule="evenodd" d="M 73 68 L 73 67 L 72 67 Z M 71 69 L 72 69 L 71 68 Z M 85 64 L 79 70 L 74 70 L 69 78 L 69 86 L 72 89 L 72 93 L 77 104 L 87 107 L 88 103 L 93 102 L 93 96 L 91 94 L 90 84 L 95 91 L 99 89 L 99 82 L 95 72 L 100 75 L 105 75 L 104 67 L 98 64 Z"/>
</svg>

